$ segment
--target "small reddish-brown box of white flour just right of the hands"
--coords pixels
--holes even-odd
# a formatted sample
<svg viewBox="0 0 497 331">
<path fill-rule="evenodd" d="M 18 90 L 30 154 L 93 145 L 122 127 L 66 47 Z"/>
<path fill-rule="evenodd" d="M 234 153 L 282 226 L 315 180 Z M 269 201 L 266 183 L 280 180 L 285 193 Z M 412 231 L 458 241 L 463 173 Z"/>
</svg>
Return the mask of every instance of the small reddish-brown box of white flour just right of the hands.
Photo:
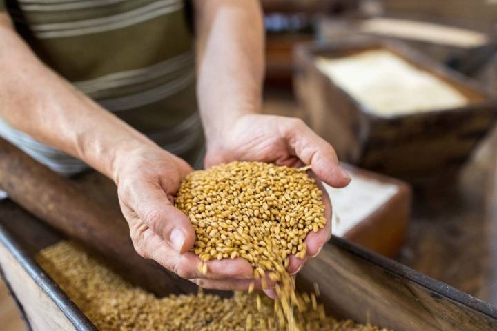
<svg viewBox="0 0 497 331">
<path fill-rule="evenodd" d="M 387 257 L 404 243 L 411 213 L 409 184 L 351 165 L 347 188 L 324 184 L 333 204 L 333 234 Z"/>
</svg>

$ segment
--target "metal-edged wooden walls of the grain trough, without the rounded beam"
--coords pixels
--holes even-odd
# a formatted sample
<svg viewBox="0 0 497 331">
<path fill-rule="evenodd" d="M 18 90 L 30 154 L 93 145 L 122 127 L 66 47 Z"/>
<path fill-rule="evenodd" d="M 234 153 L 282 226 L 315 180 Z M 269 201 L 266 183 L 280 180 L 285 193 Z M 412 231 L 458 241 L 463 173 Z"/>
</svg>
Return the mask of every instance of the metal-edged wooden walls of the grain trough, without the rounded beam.
<svg viewBox="0 0 497 331">
<path fill-rule="evenodd" d="M 97 330 L 33 257 L 61 236 L 0 201 L 0 266 L 30 330 Z M 329 313 L 397 331 L 497 330 L 497 308 L 403 265 L 333 237 L 298 287 L 320 287 Z"/>
</svg>

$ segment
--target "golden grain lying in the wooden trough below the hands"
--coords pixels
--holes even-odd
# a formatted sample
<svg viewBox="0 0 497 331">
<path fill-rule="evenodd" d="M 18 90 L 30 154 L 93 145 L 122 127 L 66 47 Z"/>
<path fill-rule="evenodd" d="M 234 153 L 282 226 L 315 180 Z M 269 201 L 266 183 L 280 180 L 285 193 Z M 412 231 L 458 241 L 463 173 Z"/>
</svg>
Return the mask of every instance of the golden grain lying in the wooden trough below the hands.
<svg viewBox="0 0 497 331">
<path fill-rule="evenodd" d="M 42 250 L 37 262 L 101 331 L 286 330 L 277 326 L 273 301 L 262 295 L 237 292 L 223 299 L 199 293 L 158 299 L 69 241 Z M 306 330 L 387 331 L 324 317 L 322 308 L 309 310 L 304 319 Z"/>
</svg>

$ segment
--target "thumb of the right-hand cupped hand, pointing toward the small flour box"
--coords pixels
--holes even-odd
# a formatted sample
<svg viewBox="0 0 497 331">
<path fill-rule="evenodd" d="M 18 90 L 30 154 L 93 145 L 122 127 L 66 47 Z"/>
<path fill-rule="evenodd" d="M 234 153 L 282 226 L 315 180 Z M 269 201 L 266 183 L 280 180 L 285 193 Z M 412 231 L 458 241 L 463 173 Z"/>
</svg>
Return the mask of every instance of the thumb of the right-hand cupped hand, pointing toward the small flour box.
<svg viewBox="0 0 497 331">
<path fill-rule="evenodd" d="M 290 121 L 284 126 L 284 136 L 291 151 L 306 165 L 311 165 L 325 183 L 333 188 L 343 188 L 349 184 L 351 178 L 340 168 L 333 147 L 304 122 L 295 119 Z"/>
</svg>

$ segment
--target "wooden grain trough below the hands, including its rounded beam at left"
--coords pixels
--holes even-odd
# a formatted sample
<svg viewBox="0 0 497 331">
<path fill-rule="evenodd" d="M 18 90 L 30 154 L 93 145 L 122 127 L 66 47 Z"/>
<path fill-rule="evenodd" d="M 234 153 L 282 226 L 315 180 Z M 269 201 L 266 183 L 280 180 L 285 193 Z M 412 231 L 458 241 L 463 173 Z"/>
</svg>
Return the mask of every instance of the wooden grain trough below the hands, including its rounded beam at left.
<svg viewBox="0 0 497 331">
<path fill-rule="evenodd" d="M 156 294 L 195 292 L 192 283 L 130 249 L 126 221 L 115 217 L 113 183 L 91 174 L 59 177 L 0 139 L 0 187 L 43 218 L 0 200 L 0 270 L 29 330 L 97 330 L 35 262 L 40 250 L 66 235 L 119 262 L 110 267 Z M 102 241 L 95 243 L 95 237 Z M 116 244 L 119 250 L 106 257 L 102 248 Z M 329 314 L 339 318 L 396 331 L 497 330 L 496 307 L 337 237 L 299 273 L 300 290 L 311 290 L 313 283 Z"/>
</svg>

